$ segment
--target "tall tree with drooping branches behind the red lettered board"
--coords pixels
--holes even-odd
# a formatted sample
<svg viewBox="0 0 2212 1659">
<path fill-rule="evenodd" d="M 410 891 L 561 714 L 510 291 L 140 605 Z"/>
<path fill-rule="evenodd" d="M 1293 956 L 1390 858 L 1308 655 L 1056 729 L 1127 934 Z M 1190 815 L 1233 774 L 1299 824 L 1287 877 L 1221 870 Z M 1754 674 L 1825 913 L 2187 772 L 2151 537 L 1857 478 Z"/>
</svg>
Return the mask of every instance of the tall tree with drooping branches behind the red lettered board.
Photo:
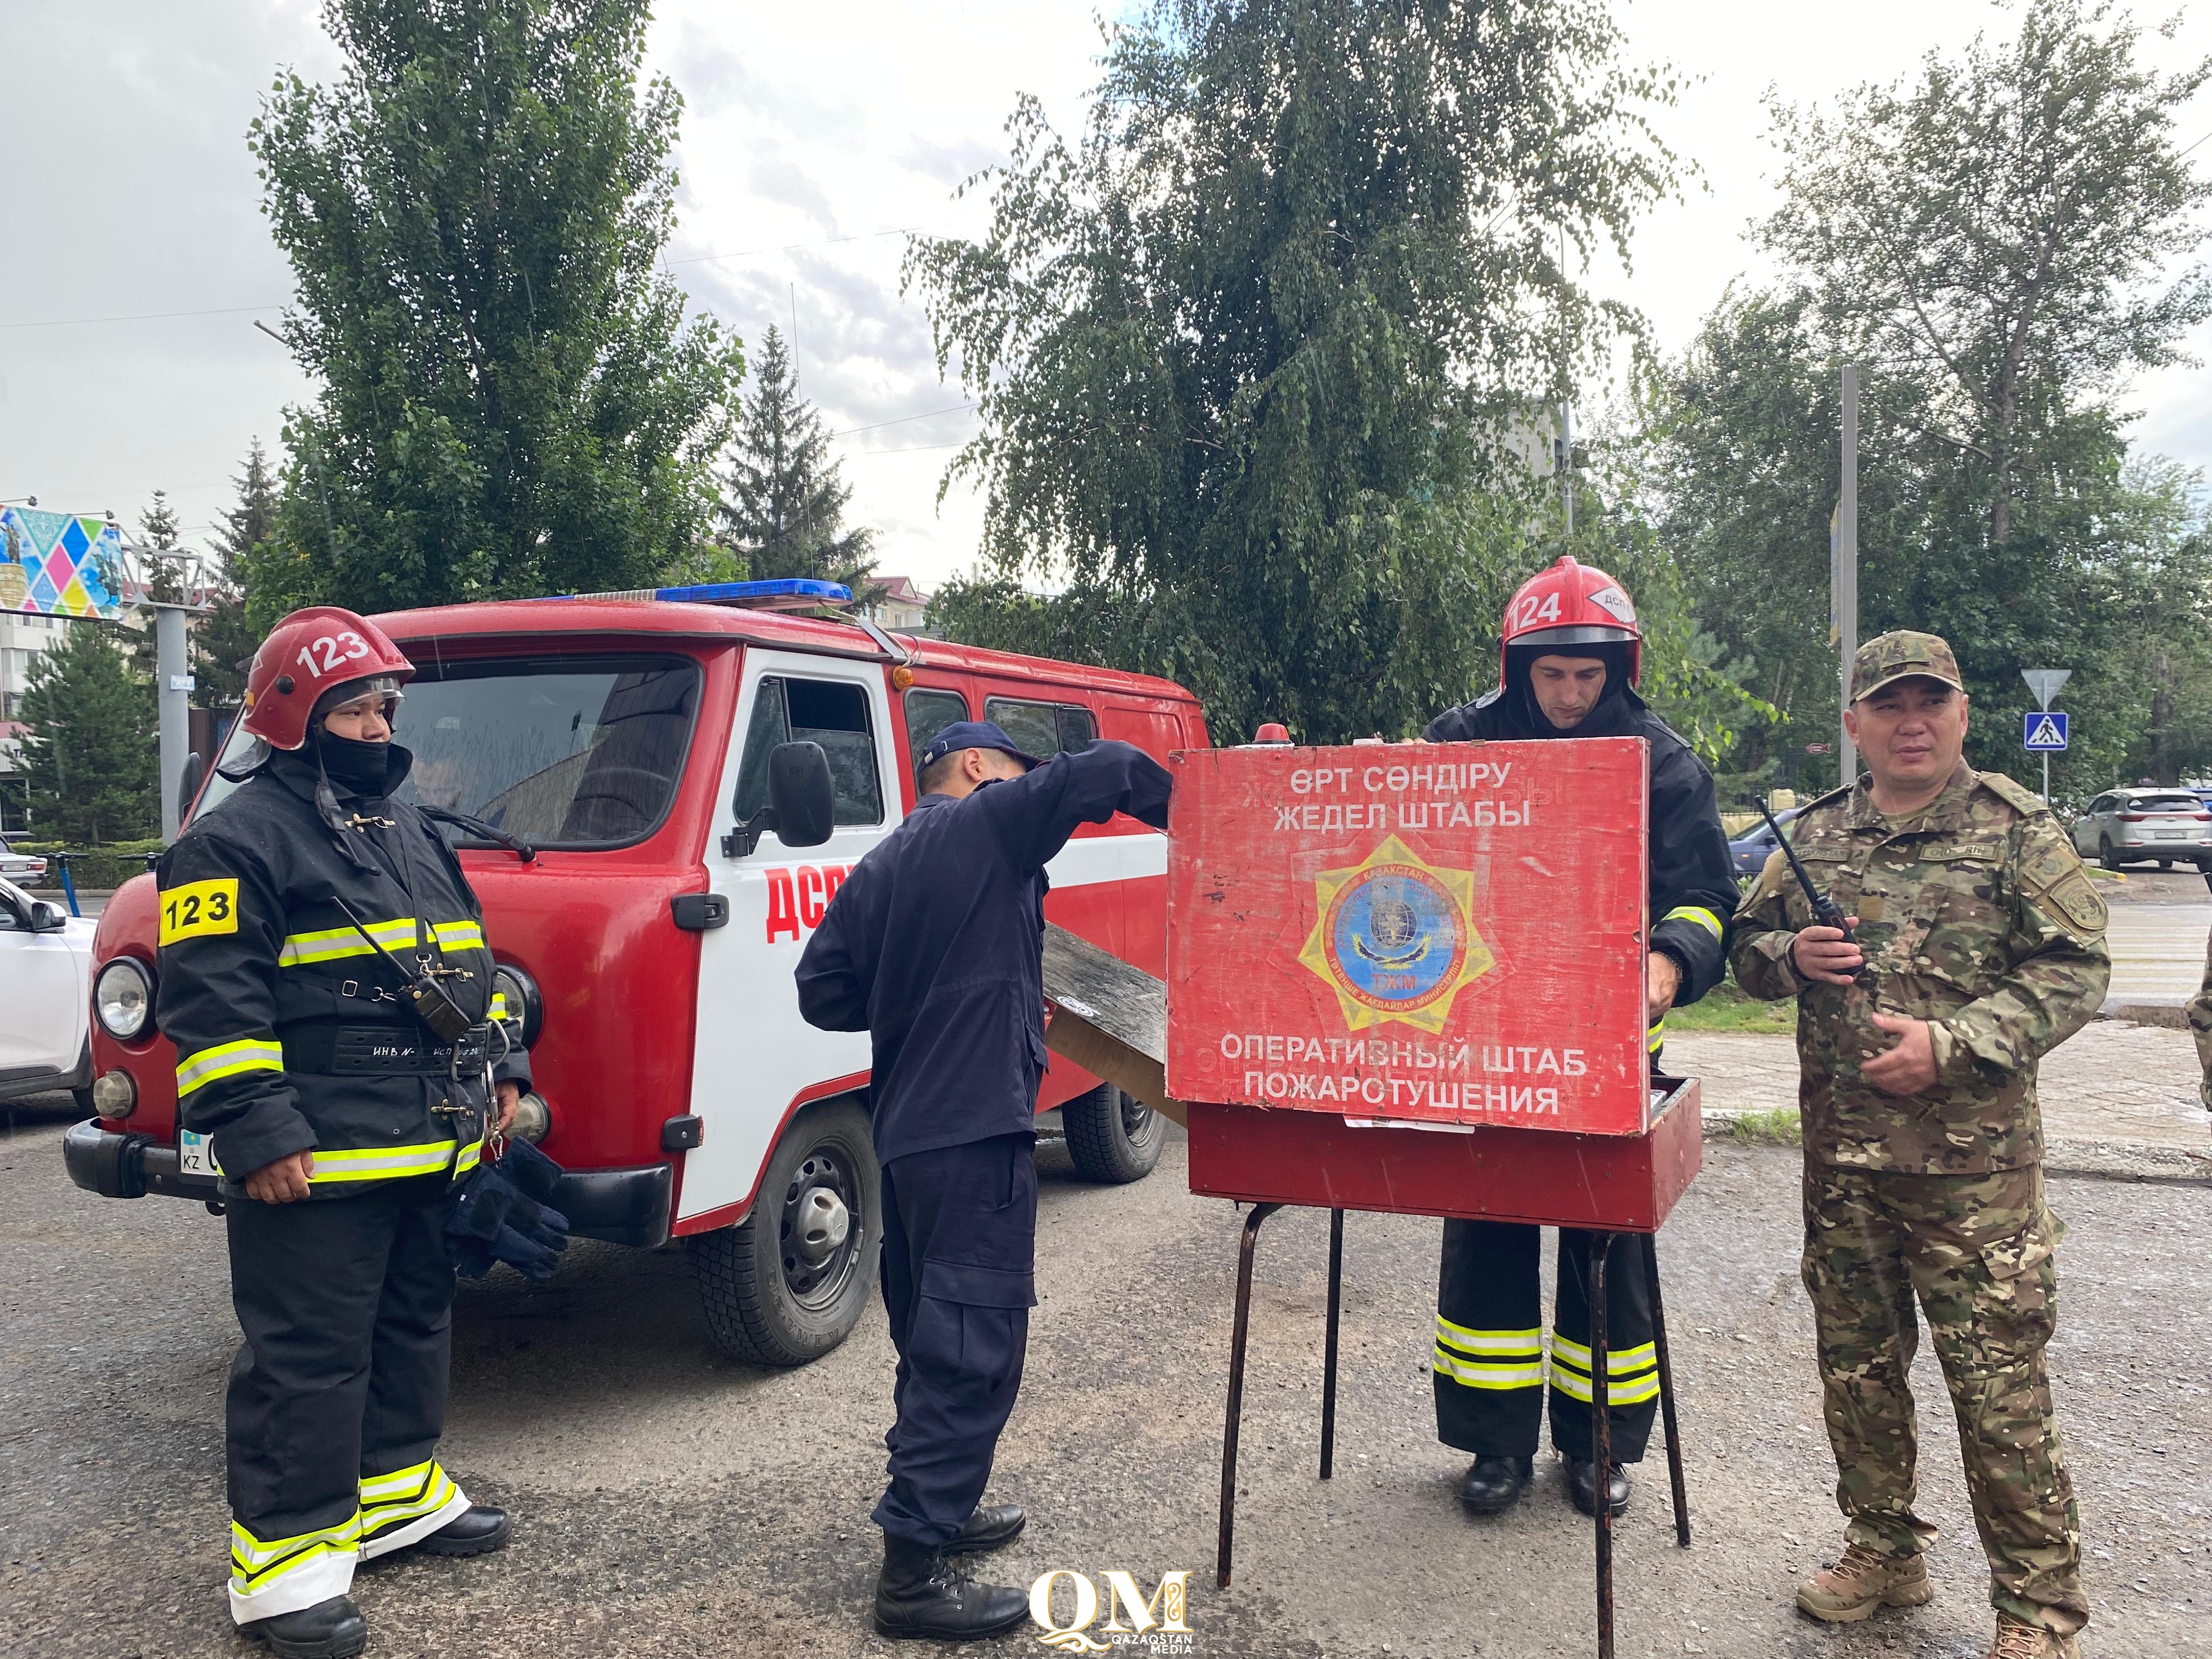
<svg viewBox="0 0 2212 1659">
<path fill-rule="evenodd" d="M 1626 252 L 1674 179 L 1619 44 L 1593 0 L 1157 0 L 1077 150 L 1024 100 L 991 230 L 907 261 L 982 416 L 984 566 L 931 619 L 1172 675 L 1223 737 L 1473 695 L 1548 562 L 1504 440 L 1639 327 L 1562 237 Z"/>
</svg>

